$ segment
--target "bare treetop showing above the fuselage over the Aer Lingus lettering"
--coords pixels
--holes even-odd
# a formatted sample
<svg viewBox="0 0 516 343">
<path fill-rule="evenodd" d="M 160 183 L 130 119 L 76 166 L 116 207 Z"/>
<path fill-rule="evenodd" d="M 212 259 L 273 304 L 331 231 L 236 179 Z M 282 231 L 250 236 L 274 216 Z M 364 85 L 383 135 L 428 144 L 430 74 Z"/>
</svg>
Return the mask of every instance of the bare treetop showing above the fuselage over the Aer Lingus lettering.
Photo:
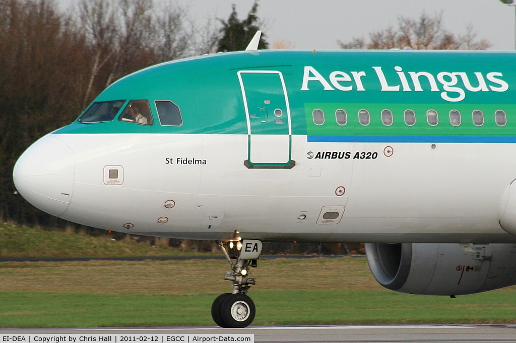
<svg viewBox="0 0 516 343">
<path fill-rule="evenodd" d="M 417 20 L 400 16 L 398 27 L 369 33 L 369 42 L 353 38 L 350 42 L 338 41 L 343 49 L 416 49 L 416 50 L 485 50 L 491 43 L 485 39 L 475 41 L 477 32 L 472 25 L 466 27 L 466 34 L 456 36 L 442 24 L 442 12 L 433 16 L 423 12 Z"/>
</svg>

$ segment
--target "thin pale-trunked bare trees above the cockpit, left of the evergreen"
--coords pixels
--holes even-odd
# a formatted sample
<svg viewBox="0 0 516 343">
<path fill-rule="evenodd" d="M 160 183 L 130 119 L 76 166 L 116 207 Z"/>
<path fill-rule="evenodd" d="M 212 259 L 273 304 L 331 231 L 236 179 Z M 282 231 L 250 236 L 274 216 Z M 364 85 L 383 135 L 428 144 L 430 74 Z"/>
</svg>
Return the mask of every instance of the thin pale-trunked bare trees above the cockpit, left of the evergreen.
<svg viewBox="0 0 516 343">
<path fill-rule="evenodd" d="M 198 28 L 183 7 L 158 8 L 152 0 L 81 0 L 79 18 L 94 56 L 84 105 L 123 75 L 213 48 L 217 30 L 209 22 Z"/>
</svg>

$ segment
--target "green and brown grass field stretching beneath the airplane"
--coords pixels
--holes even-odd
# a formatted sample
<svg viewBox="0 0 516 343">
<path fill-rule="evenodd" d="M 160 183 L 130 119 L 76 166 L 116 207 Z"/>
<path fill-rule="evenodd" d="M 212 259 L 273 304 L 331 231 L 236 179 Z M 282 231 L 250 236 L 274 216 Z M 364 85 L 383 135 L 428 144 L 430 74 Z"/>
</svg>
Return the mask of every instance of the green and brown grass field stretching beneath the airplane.
<svg viewBox="0 0 516 343">
<path fill-rule="evenodd" d="M 66 233 L 41 238 L 40 231 L 0 226 L 2 256 L 55 257 L 68 241 L 80 256 L 99 256 L 91 245 L 106 245 L 111 255 L 181 253 Z M 223 260 L 3 262 L 0 327 L 215 325 L 211 304 L 231 289 L 222 280 L 227 269 Z M 516 322 L 516 287 L 456 299 L 399 294 L 376 283 L 364 258 L 263 259 L 252 272 L 253 325 Z"/>
</svg>

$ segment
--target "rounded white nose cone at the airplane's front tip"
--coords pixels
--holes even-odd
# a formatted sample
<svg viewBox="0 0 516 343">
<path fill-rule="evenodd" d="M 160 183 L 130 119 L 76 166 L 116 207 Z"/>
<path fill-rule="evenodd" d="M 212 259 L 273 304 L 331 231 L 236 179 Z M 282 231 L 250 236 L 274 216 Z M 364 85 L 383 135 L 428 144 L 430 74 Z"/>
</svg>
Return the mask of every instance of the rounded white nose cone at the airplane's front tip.
<svg viewBox="0 0 516 343">
<path fill-rule="evenodd" d="M 72 198 L 73 151 L 53 135 L 31 145 L 14 165 L 17 191 L 36 208 L 61 216 Z"/>
</svg>

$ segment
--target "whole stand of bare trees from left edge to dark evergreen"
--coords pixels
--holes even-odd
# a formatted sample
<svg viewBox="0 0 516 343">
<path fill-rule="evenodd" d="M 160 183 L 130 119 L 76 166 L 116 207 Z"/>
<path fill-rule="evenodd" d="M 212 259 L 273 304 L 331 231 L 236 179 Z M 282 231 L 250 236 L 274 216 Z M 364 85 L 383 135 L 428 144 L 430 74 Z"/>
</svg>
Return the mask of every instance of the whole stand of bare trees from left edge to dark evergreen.
<svg viewBox="0 0 516 343">
<path fill-rule="evenodd" d="M 0 0 L 0 218 L 5 220 L 56 220 L 14 195 L 12 167 L 29 144 L 70 123 L 118 77 L 207 52 L 216 42 L 217 29 L 195 27 L 178 6 L 156 11 L 152 0 L 78 5 L 72 16 L 60 12 L 54 0 Z"/>
</svg>

